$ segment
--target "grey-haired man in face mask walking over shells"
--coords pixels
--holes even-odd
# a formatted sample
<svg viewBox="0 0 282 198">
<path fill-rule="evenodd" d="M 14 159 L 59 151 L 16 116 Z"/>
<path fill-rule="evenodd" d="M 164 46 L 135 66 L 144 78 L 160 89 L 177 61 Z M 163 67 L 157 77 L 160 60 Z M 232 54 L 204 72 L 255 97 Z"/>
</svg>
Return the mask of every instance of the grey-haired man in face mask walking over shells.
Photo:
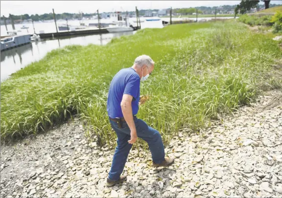
<svg viewBox="0 0 282 198">
<path fill-rule="evenodd" d="M 161 134 L 136 117 L 139 110 L 140 81 L 146 80 L 152 74 L 154 64 L 149 56 L 141 55 L 135 59 L 132 67 L 118 71 L 111 82 L 107 111 L 111 126 L 118 136 L 118 146 L 107 178 L 107 186 L 126 180 L 126 176 L 120 175 L 137 137 L 148 143 L 154 167 L 168 167 L 174 163 L 173 158 L 164 156 Z"/>
</svg>

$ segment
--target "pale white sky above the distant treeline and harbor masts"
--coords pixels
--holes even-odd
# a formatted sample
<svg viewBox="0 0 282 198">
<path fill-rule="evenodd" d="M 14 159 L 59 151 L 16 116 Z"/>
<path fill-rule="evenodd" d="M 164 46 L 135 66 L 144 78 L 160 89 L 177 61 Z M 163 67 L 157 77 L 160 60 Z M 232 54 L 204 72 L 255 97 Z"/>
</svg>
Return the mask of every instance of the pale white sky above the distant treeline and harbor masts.
<svg viewBox="0 0 282 198">
<path fill-rule="evenodd" d="M 64 12 L 95 13 L 115 11 L 135 11 L 135 6 L 141 9 L 166 9 L 185 8 L 197 6 L 235 5 L 240 0 L 1 0 L 0 15 L 8 17 L 24 14 L 44 14 L 52 12 L 56 14 Z M 263 2 L 261 2 L 263 4 Z M 270 3 L 282 4 L 282 0 L 271 0 Z"/>
</svg>

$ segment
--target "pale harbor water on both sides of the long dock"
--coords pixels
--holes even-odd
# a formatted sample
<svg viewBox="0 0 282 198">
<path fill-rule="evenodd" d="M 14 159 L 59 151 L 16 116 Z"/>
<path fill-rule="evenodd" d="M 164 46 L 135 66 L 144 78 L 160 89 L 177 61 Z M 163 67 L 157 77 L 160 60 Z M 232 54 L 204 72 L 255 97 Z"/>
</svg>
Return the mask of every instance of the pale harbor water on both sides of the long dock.
<svg viewBox="0 0 282 198">
<path fill-rule="evenodd" d="M 226 17 L 233 18 L 233 17 Z M 161 18 L 160 21 L 153 21 L 147 22 L 145 19 L 148 18 L 140 18 L 140 20 L 144 21 L 141 22 L 141 29 L 143 28 L 163 28 L 162 20 L 169 21 L 169 18 Z M 191 20 L 196 20 L 196 18 L 186 18 Z M 211 20 L 213 18 L 198 18 L 198 21 L 201 20 Z M 136 18 L 130 18 L 129 22 L 136 26 L 135 21 Z M 179 20 L 178 18 L 172 18 L 173 21 Z M 57 25 L 63 24 L 66 21 L 58 21 Z M 96 23 L 97 20 L 85 20 L 83 21 L 88 25 L 89 23 Z M 101 22 L 110 22 L 109 20 L 101 20 Z M 71 25 L 79 25 L 79 21 L 69 21 L 68 24 Z M 24 24 L 15 24 L 16 30 L 21 30 L 18 34 L 27 34 L 26 29 L 21 29 L 21 27 L 25 25 L 29 27 L 28 33 L 33 34 L 33 25 L 32 23 L 24 23 Z M 7 25 L 8 31 L 12 31 L 12 25 Z M 35 32 L 38 33 L 40 30 L 44 30 L 45 33 L 47 32 L 56 32 L 55 22 L 34 22 Z M 0 26 L 1 36 L 7 35 L 6 28 L 4 25 Z M 7 51 L 1 52 L 1 64 L 0 64 L 0 78 L 1 82 L 9 77 L 10 74 L 16 72 L 17 70 L 23 68 L 24 66 L 39 61 L 42 59 L 47 52 L 56 49 L 58 47 L 64 47 L 70 44 L 98 44 L 104 45 L 111 41 L 114 37 L 119 37 L 122 35 L 132 35 L 135 32 L 121 32 L 121 33 L 108 33 L 108 34 L 101 34 L 101 35 L 90 35 L 90 36 L 78 36 L 78 37 L 70 37 L 70 38 L 60 38 L 54 40 L 42 40 L 40 42 L 33 42 L 31 44 L 27 44 L 24 46 L 20 46 L 14 49 L 10 49 Z"/>
</svg>

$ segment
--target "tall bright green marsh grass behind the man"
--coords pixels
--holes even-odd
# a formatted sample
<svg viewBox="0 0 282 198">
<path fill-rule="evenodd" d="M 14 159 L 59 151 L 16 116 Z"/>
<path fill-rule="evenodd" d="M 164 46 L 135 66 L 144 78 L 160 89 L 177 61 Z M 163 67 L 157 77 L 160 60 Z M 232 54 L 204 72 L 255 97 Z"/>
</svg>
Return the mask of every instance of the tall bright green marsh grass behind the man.
<svg viewBox="0 0 282 198">
<path fill-rule="evenodd" d="M 203 127 L 218 112 L 249 103 L 260 88 L 277 88 L 272 74 L 282 56 L 269 38 L 238 22 L 209 22 L 143 29 L 106 46 L 67 46 L 1 83 L 1 137 L 36 133 L 77 114 L 102 143 L 116 138 L 106 112 L 109 84 L 119 69 L 147 54 L 154 74 L 141 84 L 151 100 L 138 117 L 164 142 L 189 127 Z"/>
</svg>

